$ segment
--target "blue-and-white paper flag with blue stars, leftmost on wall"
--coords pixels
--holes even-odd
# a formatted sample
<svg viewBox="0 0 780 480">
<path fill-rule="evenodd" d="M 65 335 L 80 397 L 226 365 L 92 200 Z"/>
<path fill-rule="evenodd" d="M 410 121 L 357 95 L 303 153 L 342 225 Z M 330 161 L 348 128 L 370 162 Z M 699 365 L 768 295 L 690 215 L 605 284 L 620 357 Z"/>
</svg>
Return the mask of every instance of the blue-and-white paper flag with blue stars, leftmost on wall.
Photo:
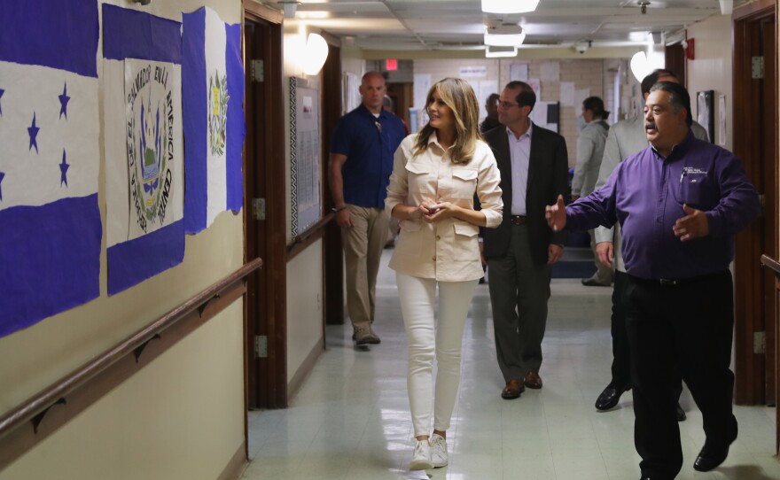
<svg viewBox="0 0 780 480">
<path fill-rule="evenodd" d="M 0 8 L 0 336 L 97 298 L 98 3 Z"/>
</svg>

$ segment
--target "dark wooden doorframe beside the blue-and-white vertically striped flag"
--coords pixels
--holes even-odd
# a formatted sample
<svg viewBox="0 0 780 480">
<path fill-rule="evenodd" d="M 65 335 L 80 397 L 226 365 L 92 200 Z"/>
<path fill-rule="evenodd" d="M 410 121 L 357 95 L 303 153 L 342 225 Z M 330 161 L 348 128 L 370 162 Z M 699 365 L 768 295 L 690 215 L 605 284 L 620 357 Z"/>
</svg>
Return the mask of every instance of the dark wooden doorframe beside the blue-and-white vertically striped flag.
<svg viewBox="0 0 780 480">
<path fill-rule="evenodd" d="M 250 408 L 287 406 L 285 112 L 282 13 L 244 0 L 246 70 L 246 260 L 263 259 L 247 284 L 246 389 Z M 252 81 L 253 60 L 263 80 Z M 265 199 L 265 220 L 255 220 L 253 198 Z M 267 356 L 255 357 L 255 337 L 267 338 Z"/>
</svg>

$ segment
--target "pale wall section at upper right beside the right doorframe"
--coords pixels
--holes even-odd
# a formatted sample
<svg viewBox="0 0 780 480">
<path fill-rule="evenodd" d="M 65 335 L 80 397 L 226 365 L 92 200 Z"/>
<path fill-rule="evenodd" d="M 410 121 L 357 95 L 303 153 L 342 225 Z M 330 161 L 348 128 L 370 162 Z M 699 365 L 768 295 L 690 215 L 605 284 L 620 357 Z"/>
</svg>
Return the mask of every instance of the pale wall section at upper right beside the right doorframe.
<svg viewBox="0 0 780 480">
<path fill-rule="evenodd" d="M 696 120 L 698 108 L 696 93 L 703 90 L 714 90 L 715 104 L 715 140 L 717 143 L 720 132 L 718 119 L 721 114 L 718 97 L 726 96 L 726 149 L 732 149 L 734 129 L 732 120 L 731 91 L 731 17 L 730 15 L 715 15 L 701 23 L 688 27 L 688 38 L 696 40 L 696 58 L 688 60 L 686 81 L 690 93 L 690 106 L 693 119 Z"/>
</svg>

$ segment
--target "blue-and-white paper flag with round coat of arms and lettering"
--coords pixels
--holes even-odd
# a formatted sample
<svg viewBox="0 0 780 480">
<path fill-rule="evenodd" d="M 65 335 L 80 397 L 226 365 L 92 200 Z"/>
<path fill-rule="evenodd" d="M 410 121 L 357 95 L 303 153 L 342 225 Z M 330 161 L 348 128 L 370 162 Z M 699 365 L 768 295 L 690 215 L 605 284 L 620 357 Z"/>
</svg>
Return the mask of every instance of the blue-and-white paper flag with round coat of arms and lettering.
<svg viewBox="0 0 780 480">
<path fill-rule="evenodd" d="M 109 295 L 184 258 L 181 27 L 103 4 Z"/>
</svg>

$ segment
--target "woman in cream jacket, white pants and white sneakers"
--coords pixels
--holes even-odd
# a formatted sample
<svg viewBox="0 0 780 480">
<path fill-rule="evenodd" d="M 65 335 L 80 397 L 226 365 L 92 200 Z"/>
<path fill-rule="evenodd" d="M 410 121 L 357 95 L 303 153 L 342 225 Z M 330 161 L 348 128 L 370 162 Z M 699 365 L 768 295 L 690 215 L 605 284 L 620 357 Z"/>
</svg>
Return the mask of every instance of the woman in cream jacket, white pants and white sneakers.
<svg viewBox="0 0 780 480">
<path fill-rule="evenodd" d="M 479 104 L 468 82 L 446 78 L 426 98 L 430 120 L 395 152 L 385 201 L 386 212 L 401 223 L 389 266 L 409 340 L 412 470 L 448 463 L 446 438 L 460 383 L 464 326 L 483 275 L 478 236 L 480 227 L 501 223 L 503 210 L 499 171 L 480 140 Z M 475 195 L 480 211 L 474 210 Z"/>
</svg>

